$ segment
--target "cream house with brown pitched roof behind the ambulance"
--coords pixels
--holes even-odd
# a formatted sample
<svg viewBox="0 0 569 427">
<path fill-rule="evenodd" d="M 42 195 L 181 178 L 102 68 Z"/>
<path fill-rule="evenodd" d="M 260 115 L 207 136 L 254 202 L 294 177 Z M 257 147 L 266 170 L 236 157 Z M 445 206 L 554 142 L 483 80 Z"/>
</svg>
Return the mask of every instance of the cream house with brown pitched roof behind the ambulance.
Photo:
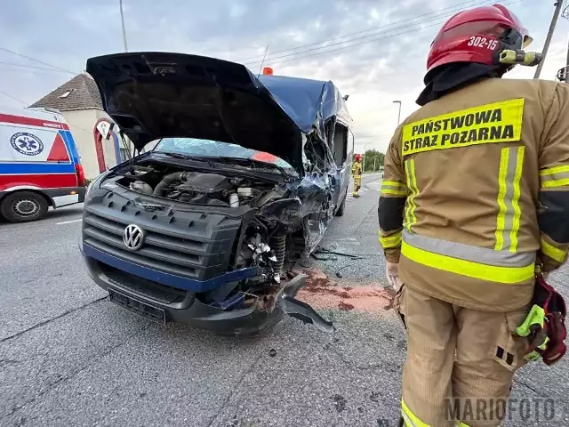
<svg viewBox="0 0 569 427">
<path fill-rule="evenodd" d="M 130 141 L 122 141 L 116 124 L 103 110 L 99 88 L 87 73 L 73 77 L 29 107 L 60 110 L 73 133 L 87 178 L 95 178 L 132 153 Z"/>
</svg>

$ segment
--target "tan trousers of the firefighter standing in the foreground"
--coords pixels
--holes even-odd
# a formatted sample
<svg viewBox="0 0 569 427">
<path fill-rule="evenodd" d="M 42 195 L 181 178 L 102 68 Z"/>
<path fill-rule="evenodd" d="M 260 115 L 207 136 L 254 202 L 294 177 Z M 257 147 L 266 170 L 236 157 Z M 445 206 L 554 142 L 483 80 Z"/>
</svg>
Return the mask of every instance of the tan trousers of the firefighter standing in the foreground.
<svg viewBox="0 0 569 427">
<path fill-rule="evenodd" d="M 507 313 L 470 310 L 404 284 L 394 307 L 407 334 L 403 425 L 500 425 L 514 373 L 525 363 L 525 339 L 515 330 L 529 304 Z"/>
</svg>

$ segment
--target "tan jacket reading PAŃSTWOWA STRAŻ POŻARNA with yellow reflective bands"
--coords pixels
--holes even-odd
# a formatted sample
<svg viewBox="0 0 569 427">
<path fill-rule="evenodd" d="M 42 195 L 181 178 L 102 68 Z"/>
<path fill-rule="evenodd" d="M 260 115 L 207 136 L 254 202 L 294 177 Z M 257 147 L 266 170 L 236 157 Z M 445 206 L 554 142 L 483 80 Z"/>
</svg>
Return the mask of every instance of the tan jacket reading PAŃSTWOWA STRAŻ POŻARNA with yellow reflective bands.
<svg viewBox="0 0 569 427">
<path fill-rule="evenodd" d="M 403 282 L 474 310 L 530 302 L 569 248 L 569 85 L 488 78 L 397 127 L 378 208 Z"/>
</svg>

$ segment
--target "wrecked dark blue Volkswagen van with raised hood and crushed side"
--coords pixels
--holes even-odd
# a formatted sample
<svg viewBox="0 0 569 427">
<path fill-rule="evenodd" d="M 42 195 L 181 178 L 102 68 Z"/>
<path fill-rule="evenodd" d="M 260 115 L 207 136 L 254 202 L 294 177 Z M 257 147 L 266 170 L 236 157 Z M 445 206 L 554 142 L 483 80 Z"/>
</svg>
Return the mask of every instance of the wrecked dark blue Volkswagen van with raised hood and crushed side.
<svg viewBox="0 0 569 427">
<path fill-rule="evenodd" d="M 80 247 L 110 301 L 220 334 L 284 313 L 333 331 L 291 269 L 344 212 L 354 138 L 336 86 L 167 52 L 86 69 L 138 151 L 85 195 Z"/>
</svg>

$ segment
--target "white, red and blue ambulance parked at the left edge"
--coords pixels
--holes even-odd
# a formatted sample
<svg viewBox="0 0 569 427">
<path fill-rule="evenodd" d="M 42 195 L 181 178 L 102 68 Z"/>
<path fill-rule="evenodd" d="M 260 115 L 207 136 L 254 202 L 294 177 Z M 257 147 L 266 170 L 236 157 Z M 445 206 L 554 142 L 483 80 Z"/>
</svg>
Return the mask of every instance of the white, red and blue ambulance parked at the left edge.
<svg viewBox="0 0 569 427">
<path fill-rule="evenodd" d="M 0 108 L 0 216 L 40 220 L 84 194 L 83 166 L 60 111 Z"/>
</svg>

